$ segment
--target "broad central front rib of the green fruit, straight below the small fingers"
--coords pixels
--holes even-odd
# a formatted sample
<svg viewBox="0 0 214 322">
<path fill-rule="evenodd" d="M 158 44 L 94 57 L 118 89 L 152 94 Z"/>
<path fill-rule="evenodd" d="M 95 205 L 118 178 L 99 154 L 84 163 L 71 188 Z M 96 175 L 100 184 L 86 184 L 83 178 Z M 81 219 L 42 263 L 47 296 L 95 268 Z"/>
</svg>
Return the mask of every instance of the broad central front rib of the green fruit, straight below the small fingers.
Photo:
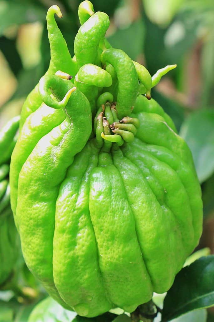
<svg viewBox="0 0 214 322">
<path fill-rule="evenodd" d="M 133 309 L 135 309 L 136 306 L 140 304 L 140 297 L 143 301 L 142 295 L 140 295 L 141 291 L 139 288 L 139 282 L 144 281 L 145 285 L 145 283 L 150 283 L 150 279 L 147 277 L 147 273 L 147 279 L 139 279 L 141 276 L 140 272 L 145 274 L 146 270 L 141 258 L 141 251 L 136 238 L 133 217 L 130 216 L 129 204 L 127 203 L 124 192 L 122 192 L 123 189 L 121 190 L 122 185 L 119 178 L 120 175 L 118 170 L 112 164 L 112 162 L 103 167 L 99 166 L 96 169 L 96 171 L 93 173 L 93 182 L 91 183 L 91 188 L 96 188 L 96 191 L 94 192 L 95 195 L 92 195 L 93 190 L 91 190 L 90 193 L 90 196 L 92 197 L 90 197 L 90 202 L 96 202 L 96 209 L 90 207 L 90 210 L 92 210 L 91 215 L 93 214 L 92 223 L 95 227 L 95 235 L 97 236 L 98 233 L 96 239 L 101 258 L 100 269 L 104 272 L 104 278 L 108 285 L 111 300 L 117 306 L 127 308 L 127 290 L 124 288 L 124 285 L 127 279 L 130 281 L 133 279 L 131 272 L 135 271 L 135 274 L 137 274 L 135 275 L 135 284 L 136 281 L 138 281 L 138 286 L 135 285 L 135 294 L 131 293 L 130 296 L 130 305 L 133 305 Z M 94 186 L 94 184 L 96 185 Z M 123 195 L 122 200 L 120 198 L 121 195 Z M 125 200 L 126 204 L 124 204 Z M 119 202 L 117 203 L 117 201 Z M 124 205 L 124 209 L 121 207 L 121 203 Z M 104 213 L 101 214 L 100 212 L 103 212 L 103 210 Z M 124 221 L 122 223 L 120 218 L 122 218 L 123 215 Z M 109 223 L 111 223 L 111 229 L 109 229 Z M 128 239 L 126 238 L 125 242 L 124 238 L 128 233 L 128 228 L 130 240 L 128 242 Z M 130 245 L 133 247 L 134 254 L 136 253 L 138 256 L 135 260 L 133 259 L 133 253 L 130 252 Z M 129 251 L 127 252 L 128 249 Z M 129 258 L 130 261 L 127 258 Z M 141 263 L 140 266 L 138 265 L 138 261 Z M 124 274 L 122 274 L 122 267 Z M 134 283 L 131 284 L 134 285 Z M 141 287 L 143 289 L 143 285 Z M 149 285 L 146 286 L 144 293 L 144 298 L 147 296 L 147 300 L 149 300 L 152 296 L 152 291 L 148 296 L 149 288 Z M 120 293 L 120 298 L 118 298 L 118 292 Z M 122 296 L 121 293 L 123 293 Z"/>
</svg>

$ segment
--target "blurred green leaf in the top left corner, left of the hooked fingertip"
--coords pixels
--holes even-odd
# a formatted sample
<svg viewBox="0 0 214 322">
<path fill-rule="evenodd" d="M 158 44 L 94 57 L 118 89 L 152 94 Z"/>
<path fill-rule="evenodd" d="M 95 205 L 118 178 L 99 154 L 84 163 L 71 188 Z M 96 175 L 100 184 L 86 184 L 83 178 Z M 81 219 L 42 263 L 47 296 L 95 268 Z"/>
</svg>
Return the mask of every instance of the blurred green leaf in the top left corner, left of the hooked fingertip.
<svg viewBox="0 0 214 322">
<path fill-rule="evenodd" d="M 0 4 L 0 35 L 12 25 L 20 25 L 35 21 L 44 21 L 46 9 L 36 4 L 21 1 L 1 1 Z"/>
</svg>

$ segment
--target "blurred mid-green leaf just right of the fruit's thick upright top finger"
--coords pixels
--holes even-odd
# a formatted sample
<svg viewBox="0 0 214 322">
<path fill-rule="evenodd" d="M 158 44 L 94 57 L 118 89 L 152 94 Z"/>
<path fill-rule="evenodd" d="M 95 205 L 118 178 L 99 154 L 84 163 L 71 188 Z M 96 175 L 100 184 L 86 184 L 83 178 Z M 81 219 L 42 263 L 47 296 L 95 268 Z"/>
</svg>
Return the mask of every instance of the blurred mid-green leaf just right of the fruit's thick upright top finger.
<svg viewBox="0 0 214 322">
<path fill-rule="evenodd" d="M 131 59 L 136 60 L 142 52 L 144 36 L 143 21 L 138 19 L 125 29 L 117 29 L 108 37 L 108 41 L 114 48 L 122 49 Z"/>
</svg>

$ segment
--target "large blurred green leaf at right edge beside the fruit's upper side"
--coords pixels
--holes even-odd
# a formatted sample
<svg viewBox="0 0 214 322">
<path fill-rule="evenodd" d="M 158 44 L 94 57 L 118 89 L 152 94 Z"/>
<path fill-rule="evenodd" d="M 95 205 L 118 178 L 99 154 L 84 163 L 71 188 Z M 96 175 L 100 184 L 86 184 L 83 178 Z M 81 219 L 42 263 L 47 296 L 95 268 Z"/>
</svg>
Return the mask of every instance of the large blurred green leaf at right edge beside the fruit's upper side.
<svg viewBox="0 0 214 322">
<path fill-rule="evenodd" d="M 193 112 L 182 124 L 180 135 L 190 147 L 200 182 L 214 171 L 214 110 Z"/>
</svg>

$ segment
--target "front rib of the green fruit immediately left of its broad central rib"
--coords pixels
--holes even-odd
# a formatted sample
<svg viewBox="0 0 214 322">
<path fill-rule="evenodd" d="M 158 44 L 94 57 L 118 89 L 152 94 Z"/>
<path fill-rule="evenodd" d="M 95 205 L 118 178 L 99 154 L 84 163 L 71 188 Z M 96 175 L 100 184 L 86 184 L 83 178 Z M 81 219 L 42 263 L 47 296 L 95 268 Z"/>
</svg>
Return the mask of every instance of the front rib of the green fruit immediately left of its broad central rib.
<svg viewBox="0 0 214 322">
<path fill-rule="evenodd" d="M 94 246 L 96 248 L 96 252 L 94 252 L 93 254 L 91 253 L 90 258 L 92 259 L 95 256 L 97 265 L 96 265 L 96 268 L 93 268 L 93 269 L 89 268 L 89 267 L 92 267 L 95 264 L 95 261 L 93 259 L 92 260 L 92 265 L 90 265 L 90 263 L 89 263 L 89 266 L 88 266 L 88 268 L 86 269 L 86 272 L 85 272 L 85 273 L 87 273 L 86 276 L 89 275 L 91 279 L 93 278 L 93 282 L 91 281 L 91 285 L 87 284 L 89 282 L 89 280 L 86 277 L 86 281 L 85 281 L 86 282 L 86 284 L 85 284 L 85 292 L 86 293 L 85 293 L 85 295 L 83 295 L 84 294 L 84 292 L 83 292 L 83 294 L 81 295 L 81 289 L 84 288 L 84 282 L 83 281 L 84 281 L 85 278 L 84 278 L 84 274 L 82 274 L 82 288 L 81 288 L 80 277 L 77 276 L 76 282 L 74 284 L 76 285 L 76 287 L 79 290 L 79 292 L 77 292 L 77 294 L 75 295 L 75 300 L 74 300 L 74 293 L 72 291 L 73 290 L 73 287 L 72 287 L 73 284 L 70 281 L 66 282 L 66 280 L 68 280 L 69 277 L 66 277 L 66 276 L 63 277 L 63 271 L 60 271 L 60 270 L 63 270 L 64 266 L 63 265 L 60 266 L 60 263 L 58 263 L 58 257 L 61 257 L 63 259 L 63 261 L 66 262 L 66 256 L 67 255 L 65 256 L 66 253 L 64 254 L 64 252 L 62 253 L 63 256 L 60 255 L 59 251 L 57 251 L 57 248 L 59 246 L 56 247 L 57 252 L 56 251 L 54 252 L 54 257 L 56 257 L 56 260 L 54 261 L 54 263 L 56 263 L 56 265 L 59 265 L 59 267 L 54 265 L 54 271 L 55 271 L 54 276 L 56 275 L 56 278 L 59 275 L 61 276 L 60 279 L 57 278 L 58 281 L 56 279 L 56 284 L 57 284 L 58 291 L 60 292 L 60 294 L 62 294 L 62 298 L 65 300 L 65 302 L 68 305 L 72 305 L 72 307 L 74 307 L 74 309 L 77 310 L 77 311 L 79 310 L 78 311 L 79 314 L 81 314 L 81 308 L 80 308 L 81 305 L 82 306 L 89 305 L 90 308 L 89 308 L 89 313 L 87 314 L 88 317 L 92 317 L 92 316 L 96 315 L 96 312 L 99 312 L 99 310 L 102 310 L 103 305 L 105 305 L 106 310 L 108 310 L 108 309 L 113 307 L 113 304 L 111 304 L 111 305 L 108 304 L 109 301 L 108 301 L 108 297 L 107 297 L 107 294 L 106 294 L 107 292 L 105 290 L 105 291 L 103 291 L 102 302 L 99 302 L 99 308 L 96 308 L 96 302 L 98 302 L 98 299 L 96 299 L 96 295 L 94 293 L 95 292 L 94 285 L 96 285 L 96 287 L 98 287 L 101 290 L 101 285 L 99 285 L 99 283 L 101 283 L 101 281 L 102 281 L 101 280 L 102 276 L 101 276 L 101 271 L 99 269 L 98 251 L 97 251 L 97 244 L 96 244 L 95 234 L 94 234 L 93 225 L 92 225 L 91 219 L 90 219 L 89 204 L 88 204 L 89 203 L 89 197 L 87 197 L 87 198 L 85 197 L 85 196 L 88 195 L 90 172 L 97 165 L 97 156 L 96 156 L 97 152 L 95 151 L 96 149 L 94 149 L 94 148 L 91 149 L 91 148 L 92 148 L 92 146 L 90 145 L 90 143 L 87 144 L 83 148 L 83 150 L 74 157 L 73 164 L 68 168 L 66 178 L 64 179 L 64 181 L 61 184 L 60 193 L 59 193 L 59 197 L 58 197 L 58 200 L 57 200 L 58 213 L 62 214 L 62 215 L 58 215 L 58 217 L 57 217 L 57 222 L 59 224 L 61 222 L 61 219 L 63 219 L 64 210 L 66 210 L 66 209 L 69 210 L 69 207 L 70 207 L 70 211 L 73 212 L 73 213 L 71 213 L 71 216 L 73 216 L 73 219 L 72 219 L 73 231 L 70 232 L 70 234 L 72 234 L 72 236 L 75 236 L 75 241 L 73 239 L 73 242 L 70 244 L 70 247 L 69 247 L 68 246 L 69 242 L 67 242 L 69 240 L 69 238 L 66 237 L 67 235 L 69 236 L 69 231 L 67 231 L 67 232 L 65 231 L 65 233 L 63 233 L 62 232 L 62 226 L 60 226 L 61 228 L 57 228 L 58 227 L 58 224 L 57 224 L 57 226 L 56 226 L 57 234 L 56 234 L 56 230 L 55 230 L 56 242 L 54 242 L 54 245 L 56 243 L 56 246 L 57 246 L 57 243 L 60 242 L 60 239 L 59 239 L 60 234 L 62 234 L 62 233 L 66 237 L 64 242 L 62 240 L 61 243 L 64 243 L 65 251 L 67 251 L 67 249 L 68 249 L 68 253 L 69 253 L 69 249 L 70 249 L 70 252 L 72 252 L 70 256 L 74 256 L 74 258 L 76 259 L 75 266 L 72 265 L 72 261 L 70 262 L 70 264 L 66 264 L 66 265 L 72 265 L 73 270 L 71 269 L 70 272 L 72 272 L 72 274 L 75 275 L 75 274 L 78 274 L 78 272 L 77 272 L 78 265 L 79 265 L 78 262 L 80 260 L 77 257 L 77 253 L 75 252 L 75 248 L 78 245 L 81 245 L 81 239 L 85 238 L 84 235 L 82 237 L 79 236 L 79 233 L 83 234 L 84 232 L 87 231 L 87 236 L 88 237 L 89 237 L 89 235 L 88 235 L 89 233 L 91 234 L 91 237 L 93 236 L 92 239 L 94 241 Z M 76 189 L 78 189 L 78 191 Z M 75 199 L 73 199 L 73 198 L 75 198 Z M 70 203 L 67 204 L 67 200 L 69 200 L 69 199 L 70 199 Z M 83 206 L 82 206 L 83 208 L 81 207 L 80 202 L 83 203 Z M 66 209 L 64 207 L 66 207 Z M 88 211 L 87 211 L 87 209 L 88 209 Z M 85 230 L 83 232 L 82 228 L 81 228 L 82 223 L 83 223 L 82 218 L 83 217 L 86 218 L 86 216 L 88 217 L 87 220 L 90 222 L 90 227 L 87 226 L 87 223 L 85 222 L 85 219 L 84 219 L 84 223 L 85 223 L 86 226 L 85 226 Z M 78 222 L 77 222 L 77 220 L 78 220 Z M 89 224 L 89 222 L 88 222 L 88 224 Z M 77 223 L 78 223 L 78 226 L 77 226 Z M 67 226 L 68 224 L 70 226 L 69 216 L 67 217 L 66 221 L 64 222 L 64 226 L 65 226 L 66 230 L 67 230 L 66 227 L 68 227 L 68 229 L 69 229 L 69 226 Z M 70 230 L 71 229 L 72 228 L 70 228 Z M 71 239 L 71 241 L 72 241 L 72 239 Z M 78 241 L 80 242 L 80 244 L 79 244 Z M 93 241 L 91 239 L 90 240 L 88 239 L 88 243 L 90 243 L 90 245 L 91 245 L 91 242 L 93 242 Z M 85 245 L 88 244 L 88 243 L 86 241 Z M 76 244 L 76 246 L 74 248 L 75 244 Z M 80 247 L 80 246 L 78 246 L 78 247 Z M 81 253 L 82 251 L 83 251 L 83 253 Z M 87 253 L 84 253 L 83 248 L 80 249 L 80 255 L 82 256 L 82 259 L 84 257 L 87 259 L 88 258 L 87 256 L 89 256 L 89 253 L 88 253 L 89 247 L 88 246 L 87 246 L 86 251 L 87 251 Z M 94 249 L 91 250 L 91 251 L 94 251 Z M 69 254 L 68 254 L 67 257 L 69 257 Z M 86 262 L 85 262 L 85 260 L 83 260 L 82 265 L 85 265 L 85 264 L 86 264 Z M 92 270 L 92 271 L 90 271 L 90 270 Z M 69 268 L 67 268 L 65 270 L 65 273 L 67 271 L 69 272 Z M 96 273 L 95 275 L 92 276 L 91 273 L 95 272 L 95 271 L 98 272 L 98 274 Z M 84 273 L 84 270 L 83 270 L 83 273 Z M 69 275 L 68 273 L 66 273 L 66 274 Z M 70 285 L 71 295 L 72 295 L 71 298 L 69 298 L 69 290 L 67 290 L 69 285 Z M 93 291 L 92 291 L 92 289 L 93 289 Z M 101 296 L 101 294 L 100 294 L 100 296 Z M 90 299 L 88 300 L 88 298 L 92 298 L 92 297 L 95 298 L 95 300 L 94 300 L 94 302 L 92 302 L 93 305 L 90 305 L 91 302 L 90 302 Z M 99 298 L 99 299 L 101 301 L 101 298 Z M 73 303 L 72 303 L 72 301 L 73 301 Z M 95 310 L 95 308 L 96 308 L 96 310 Z M 100 311 L 99 313 L 103 313 L 103 311 L 104 311 L 104 309 L 102 311 Z"/>
</svg>

